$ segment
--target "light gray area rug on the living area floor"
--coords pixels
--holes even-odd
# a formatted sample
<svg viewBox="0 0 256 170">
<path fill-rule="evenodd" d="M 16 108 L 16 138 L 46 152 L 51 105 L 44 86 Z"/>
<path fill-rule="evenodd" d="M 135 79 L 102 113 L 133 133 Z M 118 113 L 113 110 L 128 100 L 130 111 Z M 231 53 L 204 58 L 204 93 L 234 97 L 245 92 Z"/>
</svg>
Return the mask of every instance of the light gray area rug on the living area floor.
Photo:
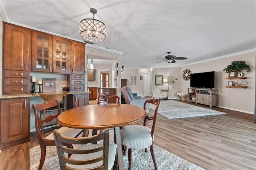
<svg viewBox="0 0 256 170">
<path fill-rule="evenodd" d="M 150 104 L 149 108 L 154 111 L 156 109 L 156 105 Z M 161 100 L 157 113 L 166 117 L 167 119 L 226 114 L 220 111 L 206 109 L 173 100 Z"/>
</svg>

